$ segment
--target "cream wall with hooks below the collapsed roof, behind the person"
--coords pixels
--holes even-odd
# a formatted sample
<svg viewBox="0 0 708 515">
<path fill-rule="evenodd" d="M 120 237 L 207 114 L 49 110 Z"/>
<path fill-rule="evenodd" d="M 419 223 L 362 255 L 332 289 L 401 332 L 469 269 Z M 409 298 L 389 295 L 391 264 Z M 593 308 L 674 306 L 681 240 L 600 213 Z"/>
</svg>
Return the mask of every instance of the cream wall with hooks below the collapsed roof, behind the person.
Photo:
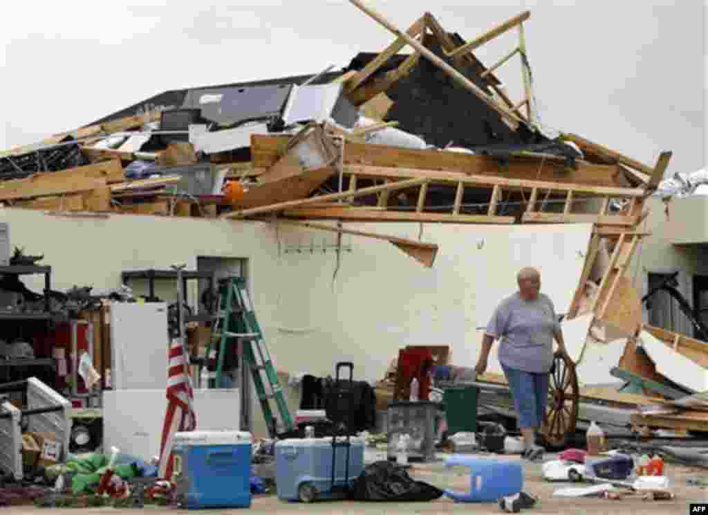
<svg viewBox="0 0 708 515">
<path fill-rule="evenodd" d="M 382 378 L 406 345 L 446 344 L 456 364 L 473 366 L 486 313 L 515 290 L 520 266 L 539 266 L 543 289 L 556 305 L 569 300 L 583 264 L 589 225 L 425 225 L 423 241 L 440 252 L 426 268 L 388 242 L 343 235 L 336 280 L 330 249 L 286 252 L 292 244 L 334 244 L 336 234 L 262 222 L 112 215 L 59 217 L 36 210 L 2 209 L 11 244 L 45 254 L 52 288 L 120 285 L 120 272 L 195 269 L 198 256 L 248 259 L 247 276 L 261 328 L 276 366 L 290 373 L 333 373 L 353 361 L 355 376 Z M 420 225 L 347 224 L 346 227 L 418 238 Z M 280 242 L 280 244 L 279 244 Z M 279 251 L 280 249 L 280 251 Z M 41 277 L 27 278 L 41 290 Z M 158 295 L 173 298 L 173 283 Z M 559 308 L 560 311 L 560 308 Z M 482 322 L 480 322 L 480 320 Z M 496 357 L 491 371 L 500 371 Z"/>
</svg>

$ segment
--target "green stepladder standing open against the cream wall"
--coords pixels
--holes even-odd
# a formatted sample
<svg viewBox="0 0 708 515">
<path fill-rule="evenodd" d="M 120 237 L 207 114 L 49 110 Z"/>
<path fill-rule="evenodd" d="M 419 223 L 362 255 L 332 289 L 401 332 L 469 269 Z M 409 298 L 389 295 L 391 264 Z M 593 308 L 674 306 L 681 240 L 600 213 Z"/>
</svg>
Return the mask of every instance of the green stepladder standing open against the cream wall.
<svg viewBox="0 0 708 515">
<path fill-rule="evenodd" d="M 209 387 L 221 387 L 227 346 L 233 344 L 234 341 L 236 345 L 239 345 L 240 340 L 239 367 L 245 366 L 251 370 L 253 385 L 256 387 L 258 401 L 261 402 L 263 417 L 266 426 L 268 426 L 270 437 L 278 436 L 278 419 L 273 416 L 273 409 L 270 407 L 271 399 L 275 400 L 278 407 L 282 431 L 292 431 L 295 424 L 292 421 L 290 410 L 287 409 L 285 396 L 280 383 L 278 383 L 278 375 L 275 372 L 273 361 L 270 359 L 270 353 L 265 346 L 263 333 L 258 325 L 256 313 L 253 311 L 253 304 L 246 290 L 244 278 L 229 277 L 219 281 L 218 298 L 217 314 L 214 324 L 212 324 L 212 338 L 207 344 L 207 363 L 212 355 L 212 341 L 219 342 L 219 355 L 216 377 L 210 378 Z M 239 373 L 242 374 L 241 370 Z M 266 389 L 265 383 L 268 383 L 268 389 Z M 241 391 L 243 390 L 244 388 L 241 388 Z"/>
</svg>

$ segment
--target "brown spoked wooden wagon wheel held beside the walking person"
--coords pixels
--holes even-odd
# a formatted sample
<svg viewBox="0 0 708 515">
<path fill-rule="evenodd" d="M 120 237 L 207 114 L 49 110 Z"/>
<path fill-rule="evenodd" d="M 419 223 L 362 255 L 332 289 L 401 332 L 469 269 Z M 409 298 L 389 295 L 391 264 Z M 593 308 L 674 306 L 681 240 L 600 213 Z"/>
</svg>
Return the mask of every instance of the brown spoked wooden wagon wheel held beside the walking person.
<svg viewBox="0 0 708 515">
<path fill-rule="evenodd" d="M 575 363 L 559 353 L 553 358 L 549 377 L 549 400 L 543 417 L 541 434 L 549 446 L 564 446 L 578 421 L 578 376 Z"/>
</svg>

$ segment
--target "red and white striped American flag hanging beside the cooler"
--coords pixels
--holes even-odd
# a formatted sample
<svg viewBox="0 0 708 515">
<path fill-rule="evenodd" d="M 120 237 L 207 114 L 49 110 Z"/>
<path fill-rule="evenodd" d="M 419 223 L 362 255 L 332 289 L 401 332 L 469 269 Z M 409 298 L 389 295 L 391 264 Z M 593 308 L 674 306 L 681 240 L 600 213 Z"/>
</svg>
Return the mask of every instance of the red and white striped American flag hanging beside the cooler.
<svg viewBox="0 0 708 515">
<path fill-rule="evenodd" d="M 178 431 L 194 431 L 197 417 L 194 412 L 194 391 L 188 374 L 188 357 L 180 338 L 172 340 L 167 366 L 167 413 L 162 426 L 160 468 L 158 476 L 172 477 L 172 444 Z"/>
</svg>

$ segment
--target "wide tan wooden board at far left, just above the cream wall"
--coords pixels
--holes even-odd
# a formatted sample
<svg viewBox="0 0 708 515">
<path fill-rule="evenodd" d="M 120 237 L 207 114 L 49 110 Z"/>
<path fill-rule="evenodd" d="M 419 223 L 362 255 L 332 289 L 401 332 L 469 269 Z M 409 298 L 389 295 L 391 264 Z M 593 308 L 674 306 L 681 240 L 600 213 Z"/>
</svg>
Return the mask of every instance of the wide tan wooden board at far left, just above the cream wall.
<svg viewBox="0 0 708 515">
<path fill-rule="evenodd" d="M 27 179 L 14 179 L 0 183 L 0 200 L 18 200 L 22 198 L 37 198 L 66 193 L 80 193 L 105 186 L 106 179 L 113 170 L 118 168 L 115 163 L 97 163 L 88 166 L 78 166 L 62 171 L 52 171 L 38 174 Z"/>
</svg>

